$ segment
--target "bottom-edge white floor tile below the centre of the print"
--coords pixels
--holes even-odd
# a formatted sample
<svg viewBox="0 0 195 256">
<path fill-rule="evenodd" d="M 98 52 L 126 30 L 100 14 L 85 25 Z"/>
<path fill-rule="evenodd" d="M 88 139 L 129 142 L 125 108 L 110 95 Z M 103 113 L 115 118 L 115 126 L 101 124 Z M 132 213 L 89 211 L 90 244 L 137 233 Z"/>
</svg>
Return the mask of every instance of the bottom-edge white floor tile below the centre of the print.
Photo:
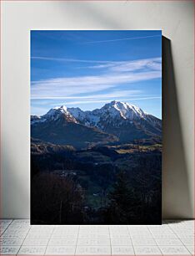
<svg viewBox="0 0 195 256">
<path fill-rule="evenodd" d="M 77 246 L 75 255 L 111 255 L 110 246 Z"/>
</svg>

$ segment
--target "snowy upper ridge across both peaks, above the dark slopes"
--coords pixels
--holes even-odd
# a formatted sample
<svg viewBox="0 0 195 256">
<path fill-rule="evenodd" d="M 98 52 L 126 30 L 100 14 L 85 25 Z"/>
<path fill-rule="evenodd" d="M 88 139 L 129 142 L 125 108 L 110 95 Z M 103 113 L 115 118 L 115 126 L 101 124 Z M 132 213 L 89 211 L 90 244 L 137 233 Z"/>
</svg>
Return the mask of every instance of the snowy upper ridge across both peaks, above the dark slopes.
<svg viewBox="0 0 195 256">
<path fill-rule="evenodd" d="M 159 120 L 153 115 L 144 112 L 138 106 L 113 100 L 102 106 L 101 109 L 82 111 L 80 108 L 67 108 L 65 105 L 52 108 L 41 117 L 32 115 L 31 124 L 46 120 L 57 120 L 64 117 L 67 121 L 81 123 L 82 125 L 95 126 L 102 131 L 107 125 L 119 127 L 124 123 L 147 121 L 150 125 L 159 125 Z"/>
</svg>

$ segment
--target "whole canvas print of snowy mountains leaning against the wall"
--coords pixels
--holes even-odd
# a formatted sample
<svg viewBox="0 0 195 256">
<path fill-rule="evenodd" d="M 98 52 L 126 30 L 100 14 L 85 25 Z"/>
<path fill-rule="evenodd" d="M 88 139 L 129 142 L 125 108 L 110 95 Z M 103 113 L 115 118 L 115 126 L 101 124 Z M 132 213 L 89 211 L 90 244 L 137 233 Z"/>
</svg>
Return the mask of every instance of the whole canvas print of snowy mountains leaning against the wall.
<svg viewBox="0 0 195 256">
<path fill-rule="evenodd" d="M 31 31 L 31 223 L 160 224 L 162 32 Z"/>
</svg>

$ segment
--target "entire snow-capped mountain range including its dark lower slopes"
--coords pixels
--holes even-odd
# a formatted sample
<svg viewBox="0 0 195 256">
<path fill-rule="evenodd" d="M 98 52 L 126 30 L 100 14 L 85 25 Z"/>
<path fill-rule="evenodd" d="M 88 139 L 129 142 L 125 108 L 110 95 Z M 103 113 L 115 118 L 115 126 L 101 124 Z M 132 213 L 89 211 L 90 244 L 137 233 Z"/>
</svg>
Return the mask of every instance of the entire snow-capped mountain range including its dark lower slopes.
<svg viewBox="0 0 195 256">
<path fill-rule="evenodd" d="M 31 136 L 77 149 L 112 142 L 128 143 L 138 139 L 159 139 L 162 122 L 135 105 L 113 100 L 101 109 L 82 111 L 65 105 L 45 115 L 32 115 Z"/>
</svg>

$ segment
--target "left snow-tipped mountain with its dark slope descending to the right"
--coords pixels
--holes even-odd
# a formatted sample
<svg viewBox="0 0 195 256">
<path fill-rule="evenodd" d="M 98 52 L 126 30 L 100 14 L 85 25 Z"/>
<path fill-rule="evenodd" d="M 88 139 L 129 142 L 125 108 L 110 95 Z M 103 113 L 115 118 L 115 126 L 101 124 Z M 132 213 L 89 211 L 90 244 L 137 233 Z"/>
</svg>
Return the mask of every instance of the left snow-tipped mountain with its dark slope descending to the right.
<svg viewBox="0 0 195 256">
<path fill-rule="evenodd" d="M 112 134 L 82 125 L 68 112 L 66 106 L 53 108 L 42 116 L 32 115 L 31 136 L 32 139 L 76 148 L 118 141 Z"/>
</svg>

